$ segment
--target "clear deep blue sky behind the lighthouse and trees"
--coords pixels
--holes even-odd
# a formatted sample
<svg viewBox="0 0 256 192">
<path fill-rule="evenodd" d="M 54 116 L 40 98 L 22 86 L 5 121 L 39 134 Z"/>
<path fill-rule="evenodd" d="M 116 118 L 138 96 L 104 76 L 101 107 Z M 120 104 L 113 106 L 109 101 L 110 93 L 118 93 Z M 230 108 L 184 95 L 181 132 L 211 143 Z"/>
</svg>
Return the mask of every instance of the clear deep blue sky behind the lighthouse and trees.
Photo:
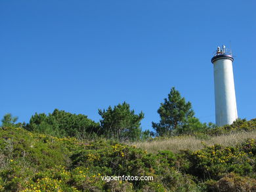
<svg viewBox="0 0 256 192">
<path fill-rule="evenodd" d="M 142 128 L 175 86 L 215 123 L 218 45 L 234 52 L 238 116 L 255 118 L 256 1 L 0 1 L 0 117 L 55 108 L 99 121 L 123 101 Z"/>
</svg>

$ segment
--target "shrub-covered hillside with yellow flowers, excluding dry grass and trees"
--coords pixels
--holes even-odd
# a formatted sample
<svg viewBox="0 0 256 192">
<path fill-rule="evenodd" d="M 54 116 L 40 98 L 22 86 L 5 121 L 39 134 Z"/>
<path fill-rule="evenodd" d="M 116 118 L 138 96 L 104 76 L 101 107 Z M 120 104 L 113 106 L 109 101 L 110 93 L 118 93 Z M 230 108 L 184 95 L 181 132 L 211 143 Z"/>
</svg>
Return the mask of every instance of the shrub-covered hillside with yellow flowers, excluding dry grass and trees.
<svg viewBox="0 0 256 192">
<path fill-rule="evenodd" d="M 3 127 L 0 191 L 255 191 L 255 122 L 235 126 L 236 134 L 239 127 L 247 132 L 238 142 L 211 145 L 203 138 L 201 147 L 179 153 L 157 152 L 167 149 L 167 143 L 149 153 L 110 140 L 82 142 Z M 227 129 L 213 130 L 209 137 L 221 136 L 221 131 L 234 137 Z M 154 180 L 102 180 L 108 176 Z"/>
</svg>

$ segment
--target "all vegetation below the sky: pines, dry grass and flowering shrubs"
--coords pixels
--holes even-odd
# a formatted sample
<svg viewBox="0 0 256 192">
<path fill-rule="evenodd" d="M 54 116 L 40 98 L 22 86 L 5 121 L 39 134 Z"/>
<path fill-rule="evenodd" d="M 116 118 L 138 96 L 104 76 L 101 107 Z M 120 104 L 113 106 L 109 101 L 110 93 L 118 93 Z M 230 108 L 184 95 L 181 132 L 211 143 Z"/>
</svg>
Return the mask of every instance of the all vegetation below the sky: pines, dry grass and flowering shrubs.
<svg viewBox="0 0 256 192">
<path fill-rule="evenodd" d="M 0 192 L 256 191 L 256 119 L 206 125 L 174 87 L 164 101 L 152 123 L 158 137 L 125 102 L 99 109 L 99 123 L 58 109 L 28 124 L 7 113 Z"/>
</svg>

